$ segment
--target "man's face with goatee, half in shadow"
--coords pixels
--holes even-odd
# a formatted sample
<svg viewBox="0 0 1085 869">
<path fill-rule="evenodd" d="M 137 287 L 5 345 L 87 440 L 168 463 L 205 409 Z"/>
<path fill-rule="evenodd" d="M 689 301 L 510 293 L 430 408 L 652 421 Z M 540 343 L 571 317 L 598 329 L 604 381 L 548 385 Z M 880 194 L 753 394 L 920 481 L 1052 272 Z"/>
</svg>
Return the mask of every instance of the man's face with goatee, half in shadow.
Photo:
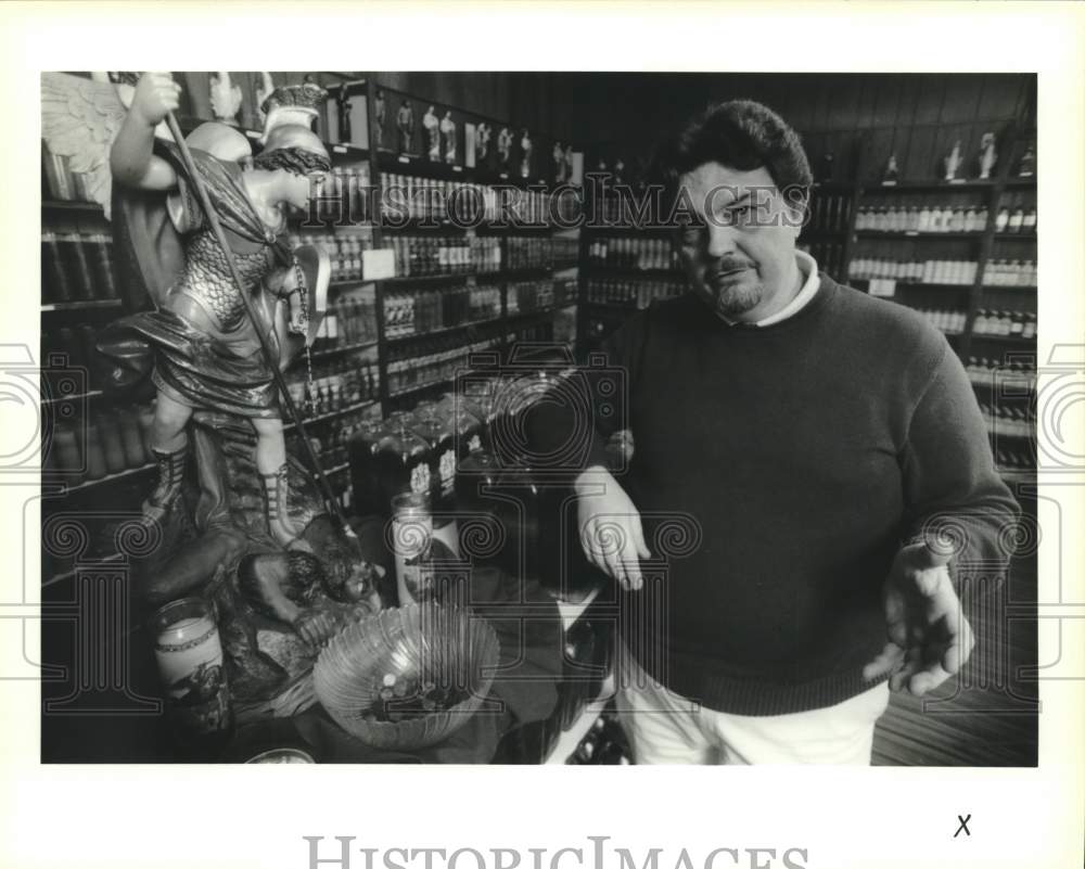
<svg viewBox="0 0 1085 869">
<path fill-rule="evenodd" d="M 802 215 L 768 169 L 705 163 L 680 181 L 698 218 L 681 234 L 693 291 L 728 320 L 756 322 L 783 308 L 799 289 Z"/>
</svg>

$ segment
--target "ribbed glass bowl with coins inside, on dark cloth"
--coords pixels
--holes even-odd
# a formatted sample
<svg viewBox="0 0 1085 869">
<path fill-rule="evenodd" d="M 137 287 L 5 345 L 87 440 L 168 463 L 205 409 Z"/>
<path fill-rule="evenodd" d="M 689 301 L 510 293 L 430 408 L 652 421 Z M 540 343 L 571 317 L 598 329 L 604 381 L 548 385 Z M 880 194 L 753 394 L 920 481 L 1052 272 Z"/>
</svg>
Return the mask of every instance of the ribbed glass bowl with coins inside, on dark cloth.
<svg viewBox="0 0 1085 869">
<path fill-rule="evenodd" d="M 411 603 L 382 610 L 340 631 L 312 672 L 317 699 L 340 727 L 375 749 L 423 749 L 462 727 L 489 692 L 500 643 L 494 628 L 467 610 Z M 400 721 L 367 720 L 382 699 L 385 678 L 432 682 L 467 692 L 447 710 Z"/>
</svg>

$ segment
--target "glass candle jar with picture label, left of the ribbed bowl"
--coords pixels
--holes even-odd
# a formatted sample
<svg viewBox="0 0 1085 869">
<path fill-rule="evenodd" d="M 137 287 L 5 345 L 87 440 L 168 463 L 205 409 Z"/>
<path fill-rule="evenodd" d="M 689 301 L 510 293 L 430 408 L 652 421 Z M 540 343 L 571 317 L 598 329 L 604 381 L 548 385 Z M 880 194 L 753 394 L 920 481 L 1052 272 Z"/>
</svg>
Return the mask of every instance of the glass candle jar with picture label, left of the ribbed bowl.
<svg viewBox="0 0 1085 869">
<path fill-rule="evenodd" d="M 154 656 L 178 743 L 221 747 L 232 736 L 230 688 L 215 608 L 181 598 L 151 617 Z"/>
</svg>

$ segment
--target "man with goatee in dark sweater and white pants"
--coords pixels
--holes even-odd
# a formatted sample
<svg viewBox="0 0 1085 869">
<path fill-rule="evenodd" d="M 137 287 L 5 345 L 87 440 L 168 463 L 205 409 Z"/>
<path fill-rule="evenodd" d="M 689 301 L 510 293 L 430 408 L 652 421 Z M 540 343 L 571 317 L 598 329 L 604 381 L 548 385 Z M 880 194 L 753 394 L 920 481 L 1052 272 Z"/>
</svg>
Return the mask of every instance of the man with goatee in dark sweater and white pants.
<svg viewBox="0 0 1085 869">
<path fill-rule="evenodd" d="M 585 552 L 638 614 L 616 670 L 636 761 L 868 764 L 889 689 L 922 694 L 967 660 L 957 589 L 969 564 L 1005 564 L 1018 507 L 945 337 L 795 250 L 812 182 L 795 132 L 728 102 L 673 161 L 691 292 L 608 342 L 626 404 L 597 413 L 576 477 Z M 616 478 L 618 420 L 634 448 Z M 649 595 L 667 516 L 698 544 Z"/>
</svg>

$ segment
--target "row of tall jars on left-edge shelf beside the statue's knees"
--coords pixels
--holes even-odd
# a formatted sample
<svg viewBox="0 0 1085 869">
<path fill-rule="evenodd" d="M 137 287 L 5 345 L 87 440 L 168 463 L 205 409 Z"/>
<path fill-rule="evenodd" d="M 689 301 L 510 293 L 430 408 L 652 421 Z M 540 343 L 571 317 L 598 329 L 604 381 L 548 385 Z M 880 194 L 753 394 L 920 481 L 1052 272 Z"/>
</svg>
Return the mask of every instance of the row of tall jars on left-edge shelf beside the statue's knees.
<svg viewBox="0 0 1085 869">
<path fill-rule="evenodd" d="M 153 422 L 153 406 L 131 405 L 104 408 L 75 422 L 58 423 L 52 430 L 52 442 L 42 445 L 43 470 L 77 484 L 143 468 L 154 461 Z"/>
</svg>

